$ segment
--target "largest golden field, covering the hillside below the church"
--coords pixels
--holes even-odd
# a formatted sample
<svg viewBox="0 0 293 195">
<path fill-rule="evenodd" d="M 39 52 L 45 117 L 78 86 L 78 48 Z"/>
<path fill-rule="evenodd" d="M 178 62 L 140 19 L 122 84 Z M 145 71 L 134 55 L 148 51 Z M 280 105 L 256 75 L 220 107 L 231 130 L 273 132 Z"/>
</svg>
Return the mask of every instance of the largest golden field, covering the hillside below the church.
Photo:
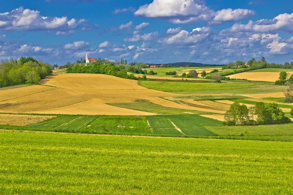
<svg viewBox="0 0 293 195">
<path fill-rule="evenodd" d="M 153 115 L 117 108 L 106 103 L 135 102 L 136 99 L 178 96 L 146 89 L 136 80 L 93 74 L 60 74 L 42 80 L 44 85 L 2 90 L 0 112 L 79 114 L 79 115 Z"/>
</svg>

